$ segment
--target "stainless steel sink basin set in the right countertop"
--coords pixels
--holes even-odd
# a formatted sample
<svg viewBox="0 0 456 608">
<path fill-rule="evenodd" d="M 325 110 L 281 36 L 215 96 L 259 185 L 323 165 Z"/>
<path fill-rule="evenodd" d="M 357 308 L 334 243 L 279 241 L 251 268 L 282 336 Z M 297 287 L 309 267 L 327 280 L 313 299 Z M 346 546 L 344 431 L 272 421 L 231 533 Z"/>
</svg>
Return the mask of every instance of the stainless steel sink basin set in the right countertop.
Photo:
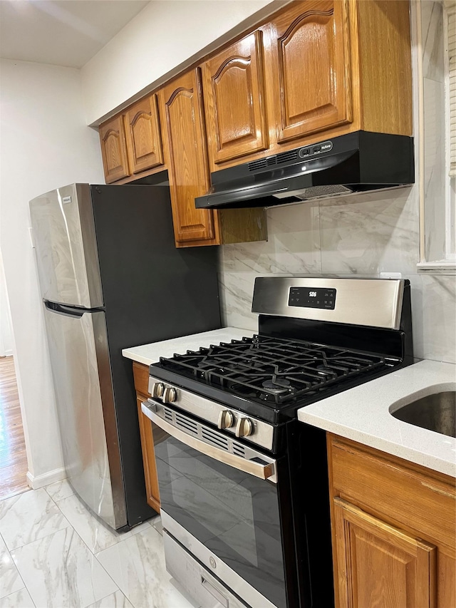
<svg viewBox="0 0 456 608">
<path fill-rule="evenodd" d="M 398 420 L 408 422 L 435 433 L 456 437 L 456 391 L 441 391 L 406 403 L 390 406 L 390 414 Z"/>
</svg>

